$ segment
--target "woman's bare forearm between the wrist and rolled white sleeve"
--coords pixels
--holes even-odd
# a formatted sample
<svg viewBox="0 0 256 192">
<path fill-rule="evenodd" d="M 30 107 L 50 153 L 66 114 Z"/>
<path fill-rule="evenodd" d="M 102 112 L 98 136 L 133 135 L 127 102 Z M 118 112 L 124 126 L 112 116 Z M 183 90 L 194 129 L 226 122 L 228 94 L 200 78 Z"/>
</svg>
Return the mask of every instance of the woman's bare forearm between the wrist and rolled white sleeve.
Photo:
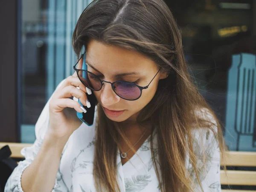
<svg viewBox="0 0 256 192">
<path fill-rule="evenodd" d="M 23 192 L 52 191 L 61 158 L 61 152 L 67 140 L 57 140 L 50 135 L 44 137 L 40 151 L 32 164 L 25 169 L 21 177 Z"/>
</svg>

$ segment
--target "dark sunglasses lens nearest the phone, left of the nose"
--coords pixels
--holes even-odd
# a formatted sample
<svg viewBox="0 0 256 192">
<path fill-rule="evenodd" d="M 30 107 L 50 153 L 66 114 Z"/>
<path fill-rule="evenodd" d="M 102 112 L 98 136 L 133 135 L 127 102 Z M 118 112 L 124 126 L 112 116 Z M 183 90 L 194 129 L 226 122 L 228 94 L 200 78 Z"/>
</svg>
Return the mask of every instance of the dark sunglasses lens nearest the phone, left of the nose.
<svg viewBox="0 0 256 192">
<path fill-rule="evenodd" d="M 86 87 L 92 90 L 100 90 L 102 86 L 100 79 L 92 73 L 79 70 L 78 77 Z"/>
</svg>

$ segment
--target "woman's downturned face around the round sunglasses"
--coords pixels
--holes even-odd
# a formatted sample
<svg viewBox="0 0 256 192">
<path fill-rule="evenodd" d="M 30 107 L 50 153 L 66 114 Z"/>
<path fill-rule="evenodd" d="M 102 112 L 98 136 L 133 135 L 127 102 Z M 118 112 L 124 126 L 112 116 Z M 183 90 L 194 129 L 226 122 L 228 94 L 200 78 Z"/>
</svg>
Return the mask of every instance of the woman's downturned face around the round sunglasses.
<svg viewBox="0 0 256 192">
<path fill-rule="evenodd" d="M 86 63 L 87 70 L 100 76 L 102 80 L 136 81 L 142 87 L 147 86 L 158 71 L 153 61 L 138 52 L 105 45 L 95 40 L 91 40 L 87 46 Z M 134 121 L 153 98 L 158 81 L 164 78 L 166 78 L 166 73 L 160 71 L 149 87 L 143 89 L 141 97 L 135 101 L 128 101 L 117 96 L 110 83 L 104 83 L 105 86 L 99 91 L 94 91 L 94 94 L 109 119 L 116 122 Z"/>
</svg>

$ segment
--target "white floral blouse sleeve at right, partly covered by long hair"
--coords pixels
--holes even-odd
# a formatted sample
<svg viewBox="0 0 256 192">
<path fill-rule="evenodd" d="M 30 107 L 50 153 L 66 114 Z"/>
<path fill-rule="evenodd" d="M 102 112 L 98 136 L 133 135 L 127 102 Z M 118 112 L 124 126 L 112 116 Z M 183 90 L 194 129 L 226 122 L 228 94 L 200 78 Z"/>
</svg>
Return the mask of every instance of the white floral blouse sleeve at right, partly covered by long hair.
<svg viewBox="0 0 256 192">
<path fill-rule="evenodd" d="M 207 114 L 208 117 L 212 116 Z M 215 123 L 215 120 L 209 119 Z M 214 128 L 217 132 L 217 127 Z M 220 150 L 218 140 L 215 134 L 209 128 L 199 128 L 193 133 L 195 142 L 193 142 L 193 149 L 195 156 L 198 158 L 197 168 L 199 179 L 204 192 L 221 192 L 220 182 Z M 189 175 L 195 183 L 195 191 L 201 192 L 202 189 L 198 184 L 195 171 L 189 162 L 188 166 Z"/>
</svg>

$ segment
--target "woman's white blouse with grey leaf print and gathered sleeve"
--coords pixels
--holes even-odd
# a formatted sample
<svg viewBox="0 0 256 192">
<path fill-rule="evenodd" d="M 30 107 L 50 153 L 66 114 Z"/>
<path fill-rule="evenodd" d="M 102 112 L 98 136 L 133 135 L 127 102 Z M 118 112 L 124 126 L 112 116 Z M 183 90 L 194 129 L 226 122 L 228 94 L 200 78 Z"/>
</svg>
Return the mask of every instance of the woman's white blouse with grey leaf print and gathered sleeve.
<svg viewBox="0 0 256 192">
<path fill-rule="evenodd" d="M 62 81 L 63 82 L 63 81 Z M 49 101 L 45 105 L 35 125 L 36 140 L 31 147 L 25 147 L 21 154 L 25 160 L 20 161 L 12 175 L 9 177 L 4 192 L 23 192 L 21 175 L 28 167 L 44 140 L 49 122 Z M 206 118 L 212 118 L 206 113 Z M 220 185 L 220 152 L 212 131 L 198 128 L 194 131 L 194 149 L 197 155 L 198 168 L 201 170 L 200 179 L 204 192 L 221 192 Z M 55 186 L 52 192 L 96 192 L 93 180 L 93 153 L 94 153 L 95 127 L 81 126 L 73 132 L 61 155 Z M 157 142 L 153 137 L 154 153 L 157 154 Z M 207 157 L 207 166 L 203 163 L 203 154 Z M 124 165 L 117 155 L 117 179 L 121 192 L 160 192 L 161 183 L 157 180 L 151 158 L 149 138 L 145 140 L 140 149 Z M 189 157 L 186 157 L 186 167 L 189 174 L 196 181 Z M 201 192 L 201 188 L 195 189 Z"/>
</svg>

